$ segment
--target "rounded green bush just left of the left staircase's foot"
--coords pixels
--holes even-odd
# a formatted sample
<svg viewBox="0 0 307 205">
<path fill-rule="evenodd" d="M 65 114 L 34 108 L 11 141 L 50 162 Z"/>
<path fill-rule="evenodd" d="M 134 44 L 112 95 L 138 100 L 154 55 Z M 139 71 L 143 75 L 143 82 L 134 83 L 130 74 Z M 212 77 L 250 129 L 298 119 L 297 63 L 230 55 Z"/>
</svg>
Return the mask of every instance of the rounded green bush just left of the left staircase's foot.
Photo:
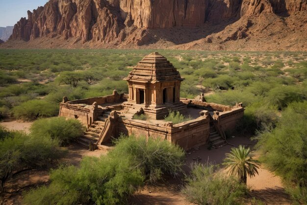
<svg viewBox="0 0 307 205">
<path fill-rule="evenodd" d="M 65 117 L 38 119 L 30 127 L 32 135 L 50 136 L 59 141 L 62 146 L 76 140 L 83 134 L 84 129 L 77 119 L 66 120 Z"/>
</svg>

